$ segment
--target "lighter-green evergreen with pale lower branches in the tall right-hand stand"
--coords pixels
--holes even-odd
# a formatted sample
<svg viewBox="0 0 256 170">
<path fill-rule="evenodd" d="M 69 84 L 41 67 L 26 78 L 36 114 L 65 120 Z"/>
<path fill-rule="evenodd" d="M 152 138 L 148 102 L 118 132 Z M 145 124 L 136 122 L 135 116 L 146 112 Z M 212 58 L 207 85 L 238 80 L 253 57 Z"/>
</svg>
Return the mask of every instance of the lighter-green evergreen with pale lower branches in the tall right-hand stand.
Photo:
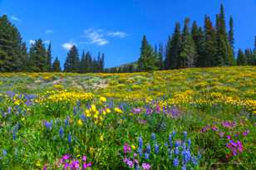
<svg viewBox="0 0 256 170">
<path fill-rule="evenodd" d="M 182 33 L 181 51 L 180 51 L 180 67 L 194 66 L 197 53 L 194 46 L 193 38 L 190 34 L 190 19 L 185 19 L 185 25 Z"/>
</svg>

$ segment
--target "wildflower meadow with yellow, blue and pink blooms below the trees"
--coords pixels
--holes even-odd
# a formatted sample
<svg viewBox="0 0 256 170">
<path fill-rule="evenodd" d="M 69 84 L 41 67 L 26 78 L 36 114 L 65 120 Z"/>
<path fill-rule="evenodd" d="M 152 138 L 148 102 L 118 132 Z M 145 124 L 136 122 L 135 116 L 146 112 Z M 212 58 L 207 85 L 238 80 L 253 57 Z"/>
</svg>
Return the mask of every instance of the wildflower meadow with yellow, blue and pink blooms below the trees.
<svg viewBox="0 0 256 170">
<path fill-rule="evenodd" d="M 255 66 L 0 73 L 0 169 L 253 169 L 255 114 Z"/>
</svg>

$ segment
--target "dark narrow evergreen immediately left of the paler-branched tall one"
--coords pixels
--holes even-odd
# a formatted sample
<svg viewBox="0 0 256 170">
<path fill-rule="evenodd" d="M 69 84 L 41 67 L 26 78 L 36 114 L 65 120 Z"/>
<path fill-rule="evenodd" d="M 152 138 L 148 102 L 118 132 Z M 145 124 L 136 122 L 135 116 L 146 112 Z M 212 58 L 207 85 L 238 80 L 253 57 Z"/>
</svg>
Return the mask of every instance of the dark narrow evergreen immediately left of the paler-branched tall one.
<svg viewBox="0 0 256 170">
<path fill-rule="evenodd" d="M 169 38 L 166 48 L 165 69 L 177 69 L 179 68 L 181 51 L 181 33 L 180 23 L 176 22 L 175 32 L 171 38 Z"/>
</svg>

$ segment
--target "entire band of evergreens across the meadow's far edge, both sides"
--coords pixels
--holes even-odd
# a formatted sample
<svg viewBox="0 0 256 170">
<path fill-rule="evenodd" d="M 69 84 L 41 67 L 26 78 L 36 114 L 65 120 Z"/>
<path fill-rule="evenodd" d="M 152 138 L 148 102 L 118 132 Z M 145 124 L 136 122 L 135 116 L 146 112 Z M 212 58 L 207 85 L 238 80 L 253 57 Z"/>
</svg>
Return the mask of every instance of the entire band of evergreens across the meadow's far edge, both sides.
<svg viewBox="0 0 256 170">
<path fill-rule="evenodd" d="M 234 51 L 234 21 L 229 18 L 227 31 L 224 6 L 215 17 L 215 23 L 207 15 L 204 27 L 185 18 L 183 27 L 176 22 L 175 30 L 166 44 L 151 46 L 143 36 L 138 61 L 123 66 L 104 69 L 104 54 L 92 57 L 90 51 L 72 46 L 63 66 L 65 72 L 135 72 L 170 70 L 188 67 L 245 66 L 256 65 L 256 36 L 254 49 Z M 0 71 L 62 71 L 58 57 L 52 61 L 52 45 L 46 47 L 42 39 L 34 41 L 27 51 L 22 36 L 7 15 L 0 17 Z"/>
</svg>

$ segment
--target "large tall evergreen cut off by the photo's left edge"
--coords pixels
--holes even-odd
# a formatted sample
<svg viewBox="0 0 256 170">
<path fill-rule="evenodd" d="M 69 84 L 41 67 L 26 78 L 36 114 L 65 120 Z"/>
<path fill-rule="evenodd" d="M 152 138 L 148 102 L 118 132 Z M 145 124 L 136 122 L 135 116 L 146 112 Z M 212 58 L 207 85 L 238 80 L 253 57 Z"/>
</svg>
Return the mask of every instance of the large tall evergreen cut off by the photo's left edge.
<svg viewBox="0 0 256 170">
<path fill-rule="evenodd" d="M 0 17 L 0 71 L 21 71 L 27 58 L 27 48 L 22 36 L 8 21 L 7 15 Z"/>
</svg>

